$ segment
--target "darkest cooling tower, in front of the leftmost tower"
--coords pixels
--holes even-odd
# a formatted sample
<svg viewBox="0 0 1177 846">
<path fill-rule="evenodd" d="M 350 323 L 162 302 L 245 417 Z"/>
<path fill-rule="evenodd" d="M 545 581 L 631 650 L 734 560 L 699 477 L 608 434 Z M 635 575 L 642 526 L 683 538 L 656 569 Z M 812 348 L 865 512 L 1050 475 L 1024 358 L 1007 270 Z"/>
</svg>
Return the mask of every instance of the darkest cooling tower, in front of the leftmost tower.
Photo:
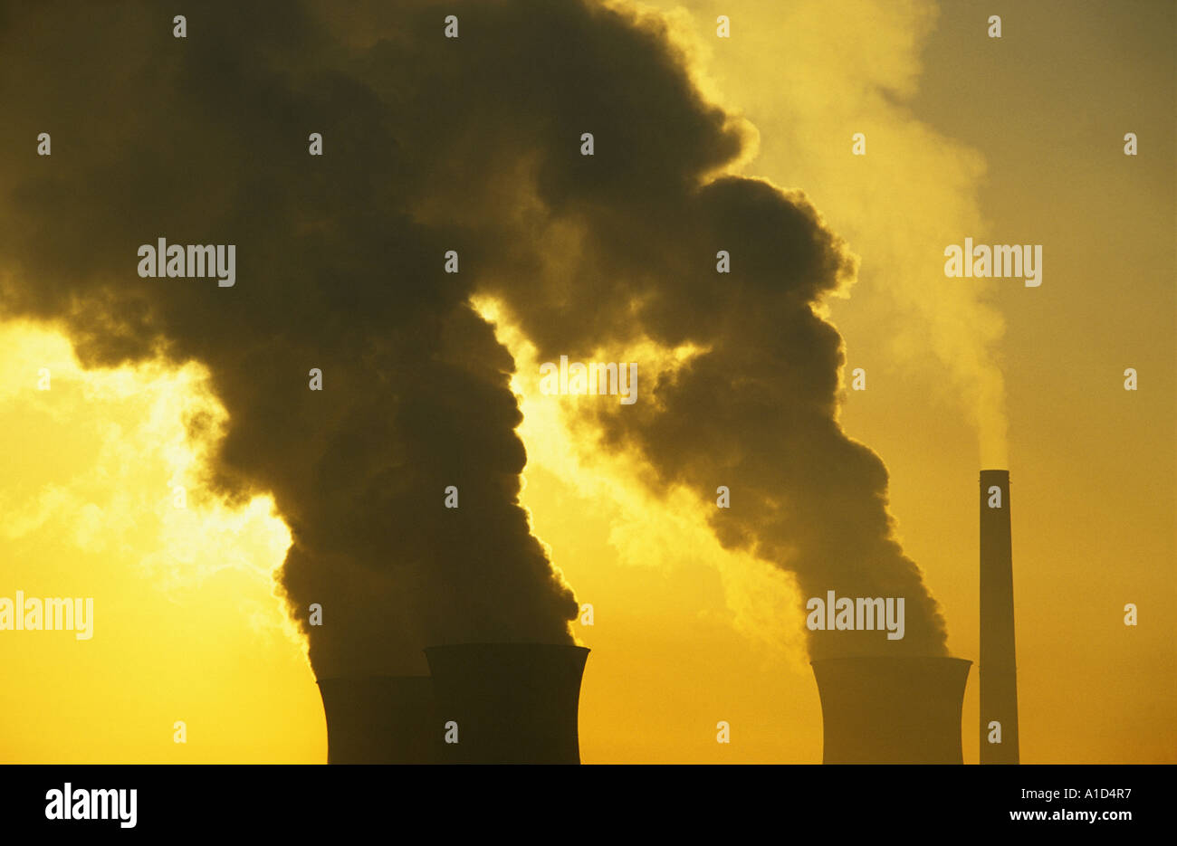
<svg viewBox="0 0 1177 846">
<path fill-rule="evenodd" d="M 446 764 L 579 764 L 577 708 L 588 650 L 463 644 L 425 650 Z M 455 724 L 455 726 L 454 726 Z M 440 730 L 439 730 L 440 731 Z"/>
</svg>

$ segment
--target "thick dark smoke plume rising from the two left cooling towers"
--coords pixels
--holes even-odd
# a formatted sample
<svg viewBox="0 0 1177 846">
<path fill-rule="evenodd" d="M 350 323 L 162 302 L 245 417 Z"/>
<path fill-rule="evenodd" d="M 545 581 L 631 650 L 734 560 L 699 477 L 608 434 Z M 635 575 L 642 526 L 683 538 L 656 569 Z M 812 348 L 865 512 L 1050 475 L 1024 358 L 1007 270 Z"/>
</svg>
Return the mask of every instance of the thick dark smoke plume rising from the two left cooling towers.
<svg viewBox="0 0 1177 846">
<path fill-rule="evenodd" d="M 518 505 L 511 358 L 467 302 L 477 274 L 444 273 L 471 238 L 415 219 L 415 118 L 334 69 L 298 6 L 201 5 L 186 39 L 172 15 L 5 8 L 5 312 L 65 321 L 87 364 L 211 368 L 230 415 L 211 481 L 273 492 L 293 612 L 324 609 L 320 677 L 424 671 L 430 644 L 572 642 L 576 600 Z M 235 285 L 140 278 L 159 237 L 235 245 Z"/>
</svg>

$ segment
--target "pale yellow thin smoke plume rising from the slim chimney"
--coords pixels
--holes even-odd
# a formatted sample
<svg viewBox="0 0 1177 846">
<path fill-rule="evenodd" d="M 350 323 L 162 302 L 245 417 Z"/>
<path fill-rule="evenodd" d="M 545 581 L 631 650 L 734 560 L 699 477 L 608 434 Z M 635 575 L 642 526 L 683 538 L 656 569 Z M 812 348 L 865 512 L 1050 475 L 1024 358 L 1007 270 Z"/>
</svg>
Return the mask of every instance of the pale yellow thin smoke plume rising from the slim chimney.
<svg viewBox="0 0 1177 846">
<path fill-rule="evenodd" d="M 711 0 L 683 5 L 697 11 L 705 44 L 722 45 L 707 26 Z M 990 231 L 978 199 L 985 158 L 922 119 L 929 109 L 920 89 L 944 85 L 923 73 L 939 6 L 752 0 L 736 13 L 740 48 L 714 49 L 707 69 L 717 96 L 759 129 L 754 172 L 811 189 L 830 225 L 863 257 L 852 302 L 832 304 L 856 362 L 869 371 L 884 360 L 899 365 L 931 401 L 959 405 L 977 429 L 980 466 L 1005 467 L 1005 328 L 995 308 L 1005 282 L 956 285 L 944 277 L 945 246 L 1002 235 Z M 949 18 L 960 14 L 958 4 L 944 6 L 956 7 Z M 847 162 L 859 132 L 869 153 Z M 877 213 L 897 207 L 902 214 Z M 885 337 L 870 328 L 878 326 Z M 935 375 L 920 378 L 925 367 Z"/>
</svg>

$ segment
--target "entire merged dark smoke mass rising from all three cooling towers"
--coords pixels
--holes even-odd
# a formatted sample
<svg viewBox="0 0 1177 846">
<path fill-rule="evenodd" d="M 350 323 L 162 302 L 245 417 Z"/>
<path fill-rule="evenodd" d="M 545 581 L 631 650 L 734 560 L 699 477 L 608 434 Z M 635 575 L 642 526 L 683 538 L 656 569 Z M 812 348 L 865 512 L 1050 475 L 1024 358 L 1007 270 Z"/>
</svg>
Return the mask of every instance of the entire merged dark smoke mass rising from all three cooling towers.
<svg viewBox="0 0 1177 846">
<path fill-rule="evenodd" d="M 840 340 L 813 304 L 855 260 L 802 195 L 709 181 L 744 136 L 657 18 L 227 4 L 181 40 L 172 14 L 5 9 L 5 311 L 64 321 L 87 362 L 208 365 L 230 414 L 211 481 L 274 493 L 294 535 L 282 585 L 300 618 L 325 609 L 307 628 L 320 677 L 420 670 L 431 642 L 570 642 L 576 601 L 518 505 L 513 362 L 476 292 L 545 355 L 699 347 L 636 405 L 598 406 L 605 444 L 659 485 L 729 486 L 722 540 L 806 597 L 906 599 L 904 640 L 838 633 L 814 654 L 943 652 L 886 471 L 836 420 Z M 235 244 L 235 286 L 140 279 L 158 237 Z"/>
</svg>

